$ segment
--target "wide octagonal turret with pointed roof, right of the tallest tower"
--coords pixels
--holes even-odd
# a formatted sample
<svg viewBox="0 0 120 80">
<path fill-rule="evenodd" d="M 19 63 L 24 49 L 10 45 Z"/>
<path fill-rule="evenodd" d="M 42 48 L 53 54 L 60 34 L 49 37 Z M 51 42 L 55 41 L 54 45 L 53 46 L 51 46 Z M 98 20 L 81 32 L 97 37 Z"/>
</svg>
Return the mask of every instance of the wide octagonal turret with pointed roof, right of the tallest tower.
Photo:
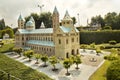
<svg viewBox="0 0 120 80">
<path fill-rule="evenodd" d="M 72 27 L 73 26 L 73 20 L 71 19 L 68 11 L 66 11 L 65 16 L 62 20 L 62 26 L 65 26 L 65 27 Z"/>
</svg>

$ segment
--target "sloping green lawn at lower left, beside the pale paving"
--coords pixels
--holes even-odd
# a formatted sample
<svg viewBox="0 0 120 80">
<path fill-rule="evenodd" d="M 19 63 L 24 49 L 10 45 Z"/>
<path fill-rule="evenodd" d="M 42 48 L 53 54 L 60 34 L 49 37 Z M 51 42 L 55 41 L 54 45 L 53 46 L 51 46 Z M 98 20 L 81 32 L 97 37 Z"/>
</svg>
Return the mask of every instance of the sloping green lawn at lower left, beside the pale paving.
<svg viewBox="0 0 120 80">
<path fill-rule="evenodd" d="M 52 80 L 45 74 L 27 67 L 23 63 L 13 60 L 4 54 L 0 54 L 0 70 L 9 72 L 21 80 Z"/>
</svg>

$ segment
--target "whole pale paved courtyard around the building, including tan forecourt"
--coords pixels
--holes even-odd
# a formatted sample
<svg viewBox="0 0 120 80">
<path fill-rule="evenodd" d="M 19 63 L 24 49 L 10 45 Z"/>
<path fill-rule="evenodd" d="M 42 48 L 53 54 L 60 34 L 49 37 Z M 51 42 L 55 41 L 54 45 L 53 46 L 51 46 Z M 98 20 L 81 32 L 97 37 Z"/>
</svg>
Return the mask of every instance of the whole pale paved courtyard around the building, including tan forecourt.
<svg viewBox="0 0 120 80">
<path fill-rule="evenodd" d="M 57 64 L 56 68 L 58 68 L 58 71 L 52 71 L 52 66 L 50 63 L 48 64 L 48 67 L 42 67 L 43 62 L 39 61 L 39 64 L 35 64 L 35 59 L 33 58 L 31 62 L 28 61 L 28 58 L 25 57 L 18 57 L 16 54 L 6 53 L 6 55 L 10 58 L 13 58 L 19 62 L 24 63 L 26 66 L 29 66 L 33 69 L 36 69 L 39 72 L 42 72 L 52 79 L 55 80 L 88 80 L 89 77 L 104 63 L 104 55 L 109 55 L 110 52 L 104 52 L 99 53 L 99 55 L 96 55 L 95 50 L 85 50 L 82 49 L 79 50 L 81 54 L 82 64 L 79 65 L 79 70 L 75 69 L 75 64 L 72 65 L 69 69 L 69 72 L 71 73 L 70 76 L 66 76 L 66 69 L 63 68 L 62 64 Z M 62 62 L 61 62 L 62 63 Z"/>
</svg>

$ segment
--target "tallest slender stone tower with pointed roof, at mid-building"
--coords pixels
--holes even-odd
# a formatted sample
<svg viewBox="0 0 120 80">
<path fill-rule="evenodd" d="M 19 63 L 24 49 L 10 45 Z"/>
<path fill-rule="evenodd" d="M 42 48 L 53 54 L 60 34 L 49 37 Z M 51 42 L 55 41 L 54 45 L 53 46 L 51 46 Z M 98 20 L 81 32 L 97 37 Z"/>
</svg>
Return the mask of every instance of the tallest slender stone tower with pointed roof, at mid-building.
<svg viewBox="0 0 120 80">
<path fill-rule="evenodd" d="M 59 13 L 56 6 L 54 8 L 52 15 L 52 26 L 53 26 L 53 33 L 56 33 L 56 30 L 59 27 Z"/>
</svg>

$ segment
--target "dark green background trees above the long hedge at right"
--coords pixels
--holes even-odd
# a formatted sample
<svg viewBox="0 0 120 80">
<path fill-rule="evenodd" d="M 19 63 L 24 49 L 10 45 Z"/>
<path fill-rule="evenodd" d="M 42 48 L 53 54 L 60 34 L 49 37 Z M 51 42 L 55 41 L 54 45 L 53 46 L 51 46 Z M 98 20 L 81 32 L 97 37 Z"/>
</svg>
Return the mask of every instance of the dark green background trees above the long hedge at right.
<svg viewBox="0 0 120 80">
<path fill-rule="evenodd" d="M 95 16 L 91 18 L 91 25 L 92 24 L 101 24 L 102 29 L 104 26 L 111 26 L 112 29 L 120 29 L 120 13 L 117 14 L 116 12 L 109 12 L 107 13 L 104 18 L 101 15 Z"/>
</svg>

